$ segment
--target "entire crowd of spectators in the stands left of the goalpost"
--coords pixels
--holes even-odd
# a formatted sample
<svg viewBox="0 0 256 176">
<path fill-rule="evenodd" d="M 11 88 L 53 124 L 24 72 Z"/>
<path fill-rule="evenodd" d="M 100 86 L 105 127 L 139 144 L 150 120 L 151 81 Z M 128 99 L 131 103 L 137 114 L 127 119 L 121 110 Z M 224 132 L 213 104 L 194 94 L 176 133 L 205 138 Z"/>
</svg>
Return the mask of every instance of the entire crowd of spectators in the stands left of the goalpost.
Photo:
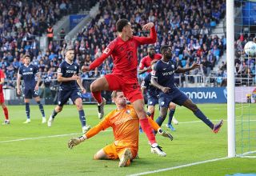
<svg viewBox="0 0 256 176">
<path fill-rule="evenodd" d="M 211 30 L 225 15 L 225 2 L 101 0 L 100 14 L 90 22 L 90 26 L 78 34 L 74 42 L 76 62 L 81 66 L 89 65 L 98 58 L 106 45 L 117 37 L 117 20 L 127 18 L 133 26 L 134 35 L 139 36 L 149 34 L 142 31 L 142 25 L 154 22 L 158 33 L 158 42 L 154 44 L 157 53 L 162 44 L 169 44 L 173 47 L 173 57 L 180 66 L 186 67 L 193 62 L 200 62 L 202 72 L 209 74 L 226 48 L 226 38 L 210 36 Z M 23 54 L 32 56 L 32 63 L 38 66 L 43 78 L 56 78 L 67 43 L 63 40 L 51 41 L 46 53 L 42 53 L 34 36 L 45 33 L 47 25 L 58 21 L 60 13 L 68 13 L 70 1 L 7 0 L 0 2 L 0 6 L 0 67 L 5 71 L 7 80 L 11 82 L 16 79 Z M 146 47 L 138 48 L 139 61 L 146 56 Z M 95 78 L 109 73 L 112 68 L 112 59 L 107 58 L 102 66 L 82 74 L 82 78 Z"/>
</svg>

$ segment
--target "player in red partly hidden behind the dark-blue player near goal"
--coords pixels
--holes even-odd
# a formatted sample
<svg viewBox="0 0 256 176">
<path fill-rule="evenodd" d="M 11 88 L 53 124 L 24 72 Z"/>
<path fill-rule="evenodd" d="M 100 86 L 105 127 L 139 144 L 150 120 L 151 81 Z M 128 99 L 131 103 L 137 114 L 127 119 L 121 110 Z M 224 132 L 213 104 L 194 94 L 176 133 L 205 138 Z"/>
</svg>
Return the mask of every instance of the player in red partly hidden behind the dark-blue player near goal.
<svg viewBox="0 0 256 176">
<path fill-rule="evenodd" d="M 148 55 L 142 58 L 141 62 L 138 66 L 138 74 L 144 74 L 145 72 L 150 73 L 151 69 L 151 62 L 153 60 L 160 60 L 162 58 L 162 54 L 156 54 L 154 51 L 154 46 L 149 45 L 147 47 Z"/>
</svg>

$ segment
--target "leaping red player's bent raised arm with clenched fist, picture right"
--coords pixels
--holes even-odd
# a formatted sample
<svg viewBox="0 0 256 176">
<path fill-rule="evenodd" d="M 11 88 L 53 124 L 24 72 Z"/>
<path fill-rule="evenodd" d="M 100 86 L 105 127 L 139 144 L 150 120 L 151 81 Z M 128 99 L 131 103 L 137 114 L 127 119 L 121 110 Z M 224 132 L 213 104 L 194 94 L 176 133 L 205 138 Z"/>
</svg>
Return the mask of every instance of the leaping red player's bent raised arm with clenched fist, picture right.
<svg viewBox="0 0 256 176">
<path fill-rule="evenodd" d="M 134 39 L 137 40 L 140 45 L 157 42 L 157 32 L 155 31 L 153 22 L 149 22 L 142 26 L 142 30 L 150 30 L 150 37 L 134 36 Z"/>
</svg>

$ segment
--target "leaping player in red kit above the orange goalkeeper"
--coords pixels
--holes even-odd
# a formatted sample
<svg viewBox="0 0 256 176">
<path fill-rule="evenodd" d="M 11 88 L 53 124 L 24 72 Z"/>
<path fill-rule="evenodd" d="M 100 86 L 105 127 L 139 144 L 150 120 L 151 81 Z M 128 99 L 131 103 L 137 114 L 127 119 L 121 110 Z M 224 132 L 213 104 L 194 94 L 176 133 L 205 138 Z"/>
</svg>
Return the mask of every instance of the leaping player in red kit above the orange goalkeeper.
<svg viewBox="0 0 256 176">
<path fill-rule="evenodd" d="M 142 130 L 146 133 L 152 150 L 161 156 L 163 151 L 155 140 L 146 111 L 144 110 L 144 98 L 137 78 L 137 48 L 143 44 L 156 42 L 157 34 L 154 29 L 154 23 L 149 22 L 142 26 L 142 30 L 150 30 L 150 37 L 133 36 L 131 24 L 126 19 L 119 19 L 116 23 L 116 28 L 118 30 L 118 37 L 110 42 L 103 54 L 99 58 L 96 58 L 90 66 L 82 66 L 82 71 L 94 70 L 106 58 L 110 55 L 112 56 L 114 62 L 112 74 L 106 74 L 102 78 L 97 78 L 90 85 L 90 90 L 98 102 L 99 118 L 102 118 L 104 115 L 103 106 L 106 102 L 101 96 L 101 90 L 122 90 L 125 97 L 134 106 Z"/>
</svg>

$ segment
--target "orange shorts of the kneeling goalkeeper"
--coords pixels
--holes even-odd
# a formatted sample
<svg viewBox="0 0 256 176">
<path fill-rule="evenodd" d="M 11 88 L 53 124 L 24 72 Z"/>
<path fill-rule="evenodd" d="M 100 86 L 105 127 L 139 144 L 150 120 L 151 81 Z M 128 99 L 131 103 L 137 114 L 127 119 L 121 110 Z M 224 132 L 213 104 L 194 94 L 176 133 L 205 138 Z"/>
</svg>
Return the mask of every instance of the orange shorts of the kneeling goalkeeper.
<svg viewBox="0 0 256 176">
<path fill-rule="evenodd" d="M 124 150 L 126 148 L 129 148 L 131 151 L 131 154 L 133 154 L 133 159 L 137 156 L 138 153 L 138 147 L 134 146 L 116 146 L 114 143 L 107 145 L 103 148 L 104 152 L 110 159 L 119 159 Z"/>
</svg>

